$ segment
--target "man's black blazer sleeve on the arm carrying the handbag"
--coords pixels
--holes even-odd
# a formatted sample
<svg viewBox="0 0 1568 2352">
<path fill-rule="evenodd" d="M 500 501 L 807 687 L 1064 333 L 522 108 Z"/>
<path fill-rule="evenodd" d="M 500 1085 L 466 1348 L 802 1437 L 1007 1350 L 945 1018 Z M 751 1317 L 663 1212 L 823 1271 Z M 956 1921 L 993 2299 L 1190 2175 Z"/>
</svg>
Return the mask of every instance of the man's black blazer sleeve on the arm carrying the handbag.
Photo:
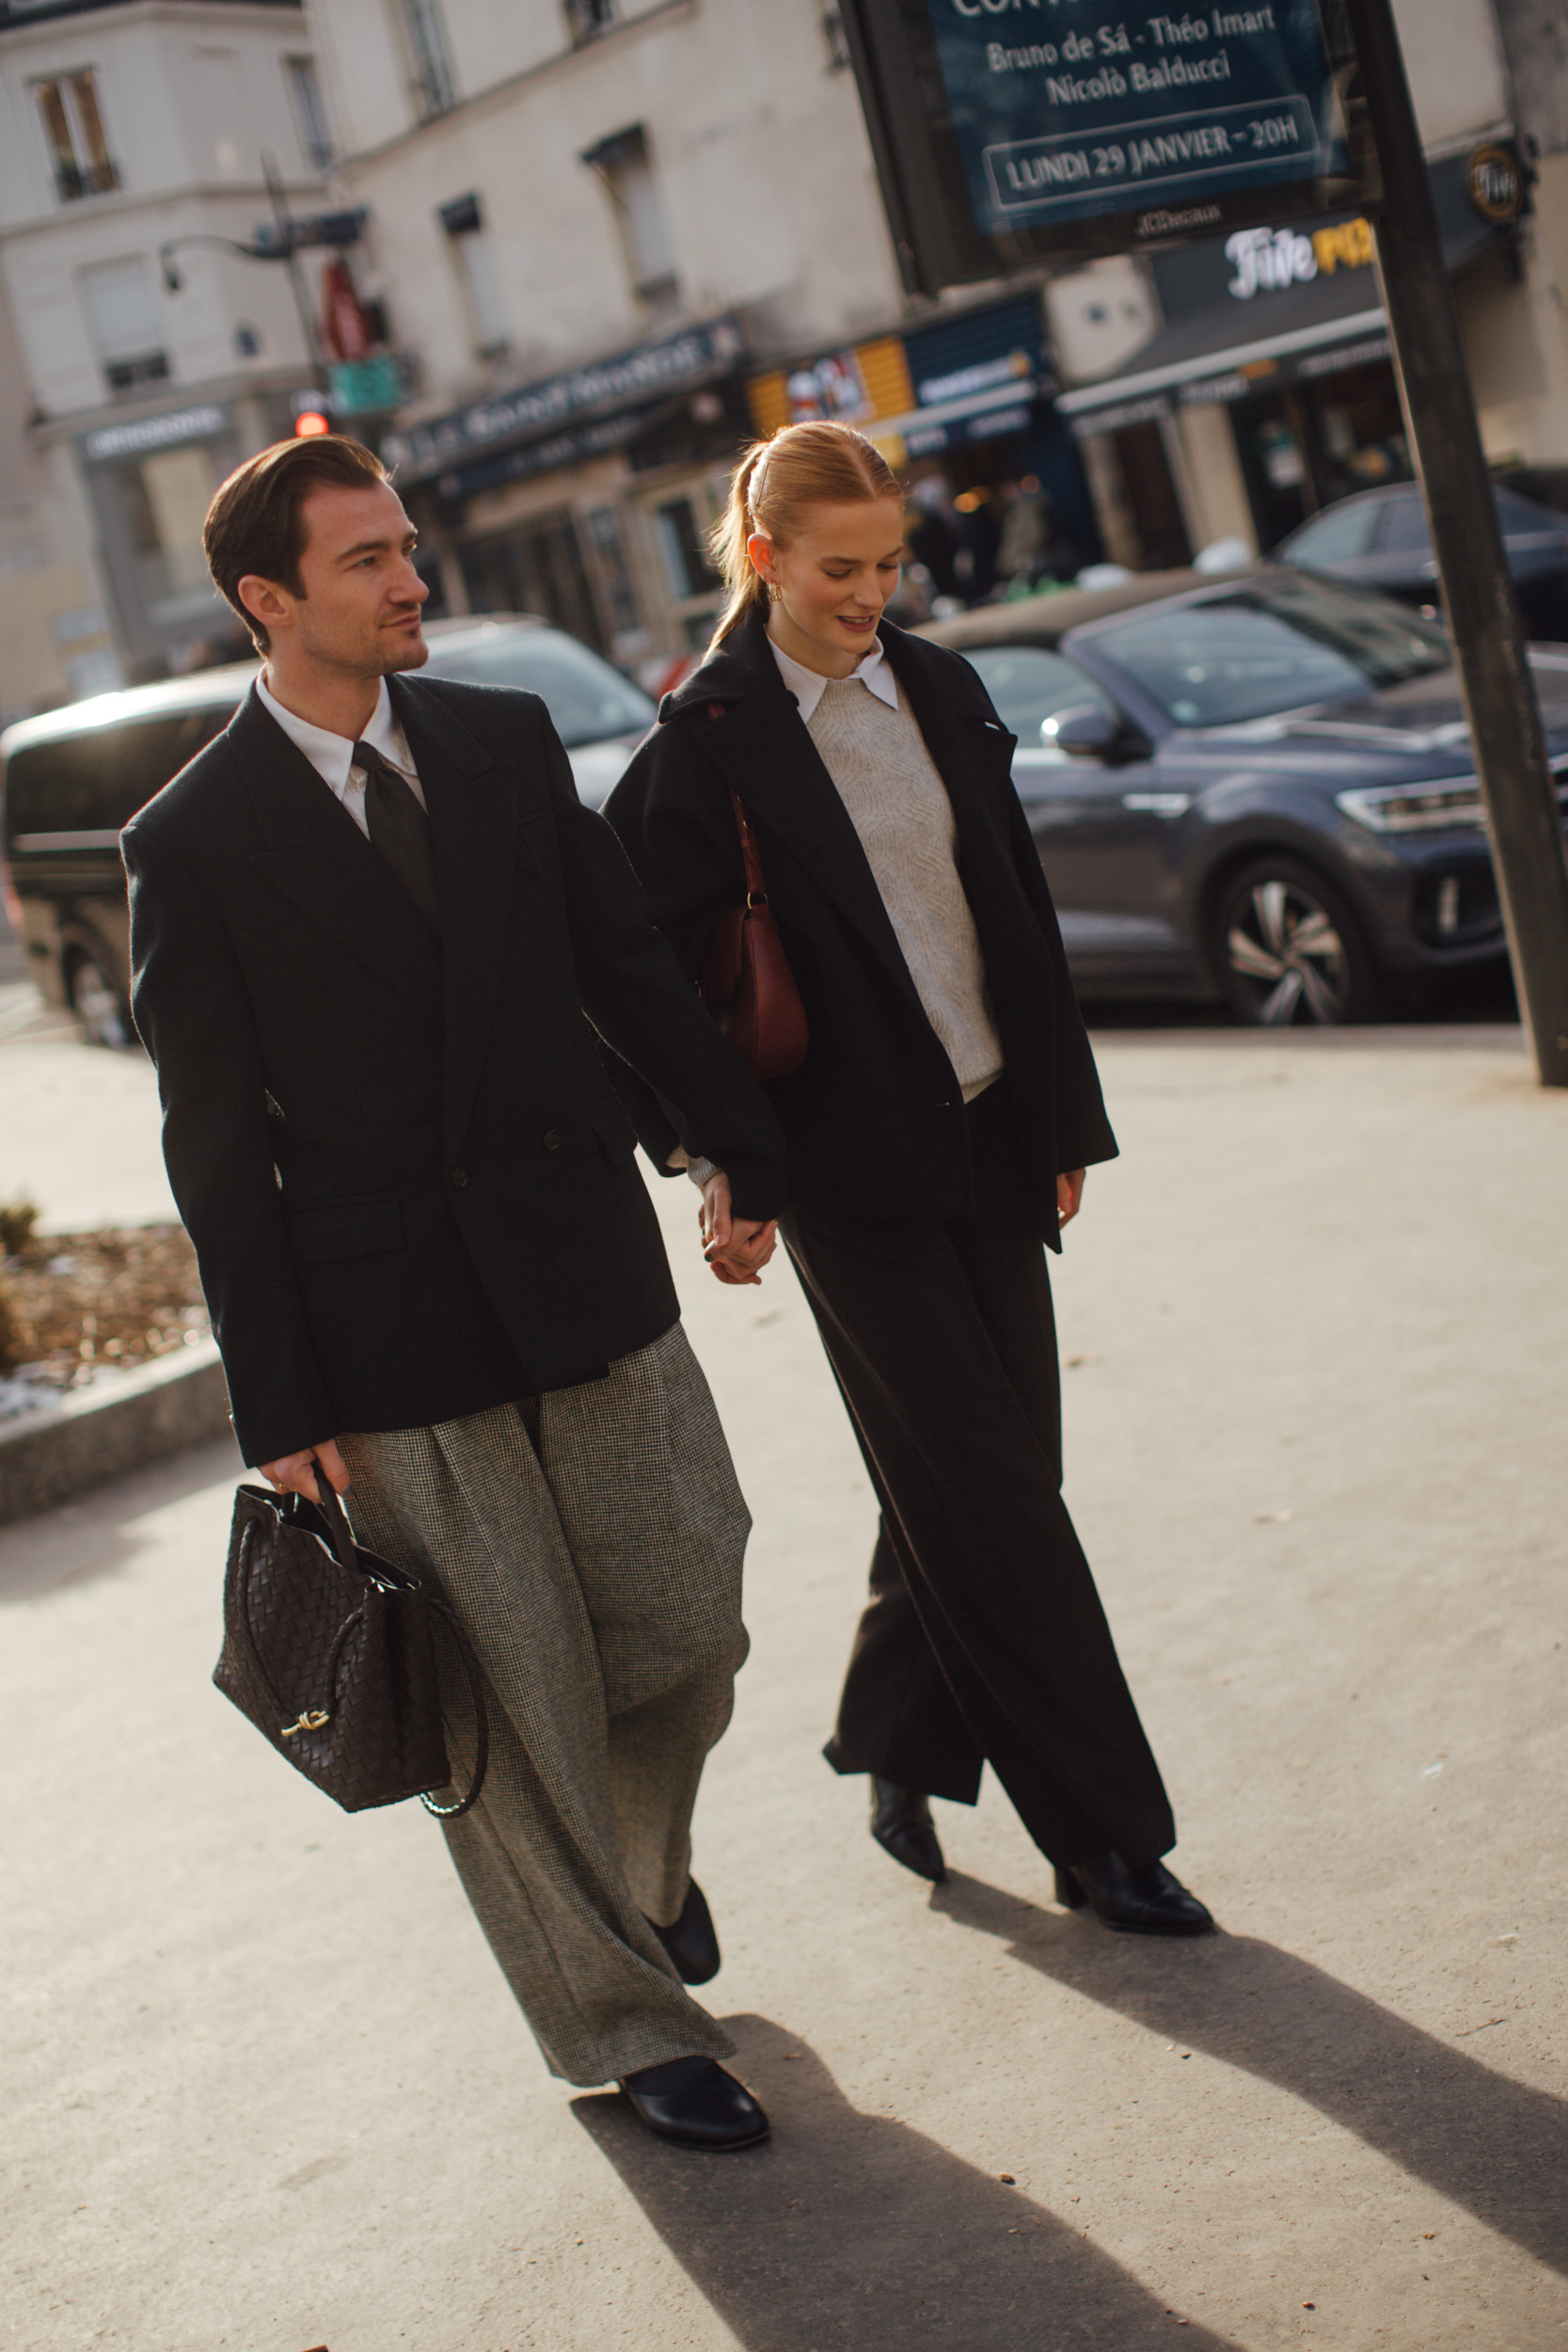
<svg viewBox="0 0 1568 2352">
<path fill-rule="evenodd" d="M 244 976 L 181 858 L 122 835 L 132 1014 L 158 1065 L 169 1188 L 195 1242 L 247 1463 L 339 1435 L 282 1221 L 268 1087 Z"/>
</svg>

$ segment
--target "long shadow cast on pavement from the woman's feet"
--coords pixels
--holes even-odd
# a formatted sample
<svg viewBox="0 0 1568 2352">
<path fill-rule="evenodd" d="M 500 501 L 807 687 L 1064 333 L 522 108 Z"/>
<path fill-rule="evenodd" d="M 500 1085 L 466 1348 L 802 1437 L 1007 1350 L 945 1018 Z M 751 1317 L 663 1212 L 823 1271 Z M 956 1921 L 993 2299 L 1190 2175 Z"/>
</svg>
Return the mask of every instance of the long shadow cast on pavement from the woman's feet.
<svg viewBox="0 0 1568 2352">
<path fill-rule="evenodd" d="M 931 1907 L 1016 1959 L 1314 2105 L 1537 2260 L 1568 2270 L 1568 2105 L 1251 1936 L 1107 1936 L 952 1875 Z M 1472 2032 L 1497 2018 L 1476 2018 Z"/>
</svg>

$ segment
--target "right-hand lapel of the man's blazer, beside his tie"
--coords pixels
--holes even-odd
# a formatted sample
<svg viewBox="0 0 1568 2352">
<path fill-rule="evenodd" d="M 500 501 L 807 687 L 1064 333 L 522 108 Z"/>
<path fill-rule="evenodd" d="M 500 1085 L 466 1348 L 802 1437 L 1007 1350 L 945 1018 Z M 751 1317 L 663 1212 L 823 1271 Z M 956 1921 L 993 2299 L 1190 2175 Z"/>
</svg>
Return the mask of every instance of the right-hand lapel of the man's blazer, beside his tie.
<svg viewBox="0 0 1568 2352">
<path fill-rule="evenodd" d="M 456 1155 L 480 1089 L 517 887 L 517 786 L 418 680 L 393 677 L 435 835 L 447 962 L 444 1129 Z"/>
</svg>

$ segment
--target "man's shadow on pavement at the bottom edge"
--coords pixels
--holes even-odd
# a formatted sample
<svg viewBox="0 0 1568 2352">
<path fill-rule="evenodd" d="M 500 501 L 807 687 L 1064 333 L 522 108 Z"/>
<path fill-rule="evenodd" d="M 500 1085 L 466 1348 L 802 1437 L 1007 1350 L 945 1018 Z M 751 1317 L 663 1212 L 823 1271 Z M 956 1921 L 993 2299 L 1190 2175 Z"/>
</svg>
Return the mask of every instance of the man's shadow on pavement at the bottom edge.
<svg viewBox="0 0 1568 2352">
<path fill-rule="evenodd" d="M 724 2025 L 773 2119 L 764 2147 L 665 2147 L 614 2093 L 571 2107 L 748 2352 L 1232 2352 L 1020 2190 L 851 2107 L 780 2025 Z"/>
</svg>

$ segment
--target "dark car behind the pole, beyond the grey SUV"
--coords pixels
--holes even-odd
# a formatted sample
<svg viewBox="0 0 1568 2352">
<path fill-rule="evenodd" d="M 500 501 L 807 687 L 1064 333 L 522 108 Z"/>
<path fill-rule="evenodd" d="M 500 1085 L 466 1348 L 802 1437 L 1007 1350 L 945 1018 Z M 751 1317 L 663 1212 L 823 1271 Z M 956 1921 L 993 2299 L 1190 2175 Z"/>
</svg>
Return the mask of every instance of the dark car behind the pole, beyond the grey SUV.
<svg viewBox="0 0 1568 2352">
<path fill-rule="evenodd" d="M 1514 595 L 1528 637 L 1568 637 L 1568 515 L 1493 485 Z M 1338 499 L 1274 550 L 1274 562 L 1328 572 L 1359 588 L 1380 588 L 1436 619 L 1436 557 L 1427 508 L 1415 482 L 1389 482 Z"/>
</svg>

